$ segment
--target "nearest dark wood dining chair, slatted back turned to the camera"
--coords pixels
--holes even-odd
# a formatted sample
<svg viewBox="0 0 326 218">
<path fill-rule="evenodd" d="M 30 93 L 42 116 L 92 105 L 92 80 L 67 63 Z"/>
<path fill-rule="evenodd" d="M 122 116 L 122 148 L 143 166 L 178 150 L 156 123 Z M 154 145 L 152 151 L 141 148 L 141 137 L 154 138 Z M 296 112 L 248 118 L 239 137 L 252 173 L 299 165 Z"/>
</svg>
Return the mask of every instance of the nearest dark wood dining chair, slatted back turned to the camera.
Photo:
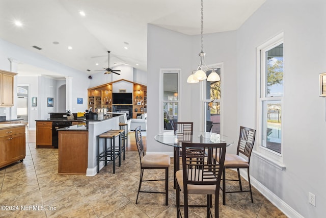
<svg viewBox="0 0 326 218">
<path fill-rule="evenodd" d="M 183 192 L 184 217 L 188 207 L 206 207 L 207 217 L 213 217 L 210 207 L 214 195 L 214 217 L 219 217 L 220 183 L 226 153 L 226 143 L 182 142 L 182 169 L 176 172 L 177 217 L 181 215 L 180 191 Z M 213 157 L 219 157 L 219 162 Z M 188 195 L 206 195 L 206 205 L 189 205 Z"/>
</svg>

